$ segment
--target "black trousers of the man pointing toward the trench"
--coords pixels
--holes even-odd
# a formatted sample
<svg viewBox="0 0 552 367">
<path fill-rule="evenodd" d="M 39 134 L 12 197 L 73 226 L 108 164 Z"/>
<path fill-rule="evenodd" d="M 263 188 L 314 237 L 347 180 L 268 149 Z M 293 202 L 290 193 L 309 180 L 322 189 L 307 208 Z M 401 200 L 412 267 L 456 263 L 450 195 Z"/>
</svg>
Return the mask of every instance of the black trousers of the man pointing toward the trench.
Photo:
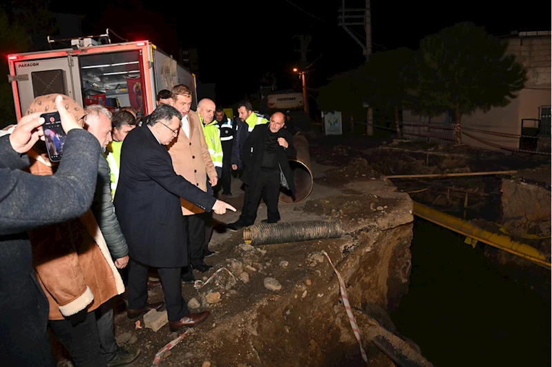
<svg viewBox="0 0 552 367">
<path fill-rule="evenodd" d="M 148 266 L 133 259 L 129 261 L 129 266 L 129 308 L 140 310 L 148 300 Z M 182 297 L 181 271 L 180 268 L 158 268 L 169 321 L 178 321 L 190 313 Z"/>
</svg>

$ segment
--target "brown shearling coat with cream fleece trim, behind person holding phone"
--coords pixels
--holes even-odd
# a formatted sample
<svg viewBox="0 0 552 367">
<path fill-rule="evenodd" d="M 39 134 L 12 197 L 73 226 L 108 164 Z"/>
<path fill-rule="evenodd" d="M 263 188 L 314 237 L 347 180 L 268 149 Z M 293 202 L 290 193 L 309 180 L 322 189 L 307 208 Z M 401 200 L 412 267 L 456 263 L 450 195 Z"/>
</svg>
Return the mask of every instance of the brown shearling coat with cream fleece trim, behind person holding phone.
<svg viewBox="0 0 552 367">
<path fill-rule="evenodd" d="M 33 175 L 52 175 L 48 158 L 34 156 L 29 171 Z M 91 210 L 78 219 L 28 233 L 37 279 L 50 306 L 48 319 L 63 320 L 85 308 L 91 312 L 124 292 Z"/>
</svg>

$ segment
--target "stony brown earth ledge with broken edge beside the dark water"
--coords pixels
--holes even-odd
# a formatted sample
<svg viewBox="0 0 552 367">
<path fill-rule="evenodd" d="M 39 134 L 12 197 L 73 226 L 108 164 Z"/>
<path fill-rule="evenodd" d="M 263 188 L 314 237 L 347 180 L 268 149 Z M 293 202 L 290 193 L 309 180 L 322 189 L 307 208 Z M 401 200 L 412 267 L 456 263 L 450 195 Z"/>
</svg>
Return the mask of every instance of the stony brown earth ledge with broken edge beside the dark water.
<svg viewBox="0 0 552 367">
<path fill-rule="evenodd" d="M 183 287 L 193 310 L 211 310 L 211 317 L 166 353 L 161 365 L 365 366 L 327 254 L 344 281 L 368 364 L 432 366 L 389 317 L 408 292 L 410 197 L 367 174 L 331 187 L 316 184 L 308 199 L 280 206 L 280 214 L 289 222 L 339 220 L 345 234 L 258 246 L 245 244 L 242 231 L 213 234 L 211 248 L 218 254 L 206 259 L 214 268 L 204 275 L 226 268 L 234 276 L 222 270 L 198 290 Z M 162 297 L 160 289 L 149 293 L 149 301 Z M 155 333 L 135 328 L 122 312 L 115 319 L 116 334 L 135 335 L 142 349 L 134 366 L 151 366 L 155 353 L 178 337 L 166 326 Z"/>
</svg>

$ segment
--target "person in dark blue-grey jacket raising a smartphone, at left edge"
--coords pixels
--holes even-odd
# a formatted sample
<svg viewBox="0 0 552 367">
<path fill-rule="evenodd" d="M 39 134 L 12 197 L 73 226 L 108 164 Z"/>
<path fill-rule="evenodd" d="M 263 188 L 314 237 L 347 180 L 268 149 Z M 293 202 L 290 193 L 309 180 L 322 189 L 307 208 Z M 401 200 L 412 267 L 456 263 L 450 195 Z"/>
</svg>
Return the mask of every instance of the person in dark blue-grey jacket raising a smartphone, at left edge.
<svg viewBox="0 0 552 367">
<path fill-rule="evenodd" d="M 46 97 L 55 96 L 39 98 Z M 5 366 L 55 366 L 46 330 L 48 300 L 35 277 L 26 230 L 83 215 L 94 194 L 99 143 L 64 108 L 64 99 L 55 100 L 67 133 L 55 175 L 21 170 L 29 165 L 25 153 L 39 139 L 41 112 L 29 111 L 11 135 L 0 138 L 0 356 Z"/>
</svg>

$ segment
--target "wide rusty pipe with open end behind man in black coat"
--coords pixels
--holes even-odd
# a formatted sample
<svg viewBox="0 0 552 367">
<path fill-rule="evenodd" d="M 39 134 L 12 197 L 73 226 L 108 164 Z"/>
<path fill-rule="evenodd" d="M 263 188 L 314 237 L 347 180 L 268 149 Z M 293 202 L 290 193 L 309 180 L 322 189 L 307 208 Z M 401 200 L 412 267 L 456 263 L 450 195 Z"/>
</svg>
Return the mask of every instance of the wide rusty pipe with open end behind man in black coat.
<svg viewBox="0 0 552 367">
<path fill-rule="evenodd" d="M 307 138 L 301 135 L 300 132 L 297 132 L 293 137 L 293 143 L 295 150 L 297 150 L 297 156 L 295 159 L 289 159 L 288 162 L 292 168 L 295 180 L 295 201 L 291 196 L 281 191 L 278 201 L 283 204 L 301 203 L 301 201 L 309 197 L 314 186 L 312 171 L 310 170 L 309 143 L 307 142 Z"/>
</svg>

